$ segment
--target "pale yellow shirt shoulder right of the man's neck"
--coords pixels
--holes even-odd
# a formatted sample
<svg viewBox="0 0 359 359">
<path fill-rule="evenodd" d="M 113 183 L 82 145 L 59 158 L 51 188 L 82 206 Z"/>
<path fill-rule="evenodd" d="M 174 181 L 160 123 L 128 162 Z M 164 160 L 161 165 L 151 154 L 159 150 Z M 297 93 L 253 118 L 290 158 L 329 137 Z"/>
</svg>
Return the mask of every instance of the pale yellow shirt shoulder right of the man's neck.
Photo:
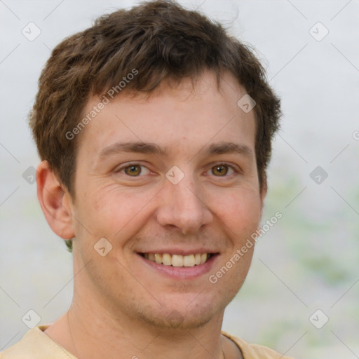
<svg viewBox="0 0 359 359">
<path fill-rule="evenodd" d="M 283 354 L 273 351 L 273 349 L 268 348 L 267 346 L 249 344 L 243 339 L 224 332 L 223 330 L 222 334 L 237 344 L 243 353 L 244 359 L 291 359 L 289 357 L 283 356 Z"/>
</svg>

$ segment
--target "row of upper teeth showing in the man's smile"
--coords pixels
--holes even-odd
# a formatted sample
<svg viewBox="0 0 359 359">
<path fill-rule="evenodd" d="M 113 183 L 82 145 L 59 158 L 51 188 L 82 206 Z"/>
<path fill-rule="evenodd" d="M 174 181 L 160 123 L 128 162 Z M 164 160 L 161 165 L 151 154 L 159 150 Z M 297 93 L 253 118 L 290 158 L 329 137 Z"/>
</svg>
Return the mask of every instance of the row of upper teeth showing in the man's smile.
<svg viewBox="0 0 359 359">
<path fill-rule="evenodd" d="M 196 255 L 170 255 L 168 253 L 145 253 L 144 257 L 152 262 L 165 266 L 198 266 L 203 264 L 210 256 L 209 253 L 197 253 Z"/>
</svg>

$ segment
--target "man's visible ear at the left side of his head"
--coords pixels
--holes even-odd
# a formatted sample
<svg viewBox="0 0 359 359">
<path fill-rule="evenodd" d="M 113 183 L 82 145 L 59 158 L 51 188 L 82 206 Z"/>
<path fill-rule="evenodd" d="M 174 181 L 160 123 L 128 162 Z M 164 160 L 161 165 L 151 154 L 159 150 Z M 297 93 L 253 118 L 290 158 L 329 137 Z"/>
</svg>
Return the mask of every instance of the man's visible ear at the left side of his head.
<svg viewBox="0 0 359 359">
<path fill-rule="evenodd" d="M 71 196 L 50 170 L 48 161 L 38 165 L 36 184 L 37 198 L 50 228 L 63 239 L 74 238 Z"/>
</svg>

